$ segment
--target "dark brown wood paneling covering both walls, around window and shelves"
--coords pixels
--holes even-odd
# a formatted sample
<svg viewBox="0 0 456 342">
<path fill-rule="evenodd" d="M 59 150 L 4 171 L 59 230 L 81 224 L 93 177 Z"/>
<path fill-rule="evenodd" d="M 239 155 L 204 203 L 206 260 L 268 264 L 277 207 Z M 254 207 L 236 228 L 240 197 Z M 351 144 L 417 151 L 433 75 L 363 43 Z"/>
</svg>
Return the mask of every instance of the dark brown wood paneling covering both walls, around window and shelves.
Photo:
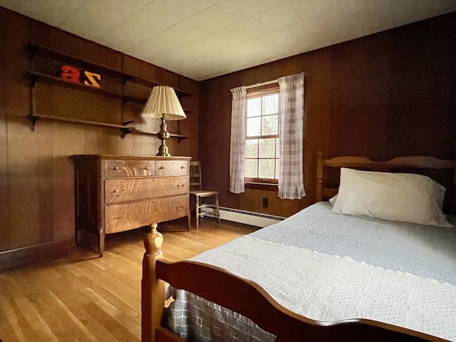
<svg viewBox="0 0 456 342">
<path fill-rule="evenodd" d="M 316 152 L 326 157 L 434 155 L 455 158 L 456 14 L 267 63 L 197 83 L 57 28 L 0 8 L 0 252 L 73 239 L 75 154 L 155 155 L 159 140 L 86 125 L 38 120 L 31 132 L 31 83 L 24 78 L 30 42 L 100 66 L 146 76 L 188 90 L 187 119 L 169 130 L 173 155 L 202 161 L 203 181 L 219 190 L 223 207 L 288 216 L 315 198 Z M 276 192 L 229 193 L 231 88 L 303 72 L 305 81 L 304 183 L 307 196 L 281 200 Z M 150 88 L 125 83 L 137 95 Z M 198 95 L 199 94 L 199 95 Z M 81 90 L 36 86 L 36 111 L 109 123 L 143 120 L 142 106 Z M 199 117 L 198 117 L 199 115 Z M 262 199 L 269 207 L 262 207 Z M 1 259 L 1 253 L 0 253 Z"/>
</svg>

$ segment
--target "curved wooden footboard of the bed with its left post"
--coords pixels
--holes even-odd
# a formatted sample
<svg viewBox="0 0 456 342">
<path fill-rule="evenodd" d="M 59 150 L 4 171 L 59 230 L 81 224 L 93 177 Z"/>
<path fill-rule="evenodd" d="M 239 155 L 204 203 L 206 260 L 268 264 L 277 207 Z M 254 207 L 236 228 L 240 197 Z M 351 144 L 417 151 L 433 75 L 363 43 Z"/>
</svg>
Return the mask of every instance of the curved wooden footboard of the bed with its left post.
<svg viewBox="0 0 456 342">
<path fill-rule="evenodd" d="M 162 328 L 164 282 L 246 316 L 277 336 L 276 341 L 445 341 L 417 331 L 385 323 L 353 319 L 313 321 L 279 305 L 253 281 L 229 271 L 193 261 L 162 260 L 163 237 L 157 225 L 145 237 L 142 262 L 142 342 L 183 341 Z M 162 280 L 160 280 L 162 279 Z"/>
</svg>

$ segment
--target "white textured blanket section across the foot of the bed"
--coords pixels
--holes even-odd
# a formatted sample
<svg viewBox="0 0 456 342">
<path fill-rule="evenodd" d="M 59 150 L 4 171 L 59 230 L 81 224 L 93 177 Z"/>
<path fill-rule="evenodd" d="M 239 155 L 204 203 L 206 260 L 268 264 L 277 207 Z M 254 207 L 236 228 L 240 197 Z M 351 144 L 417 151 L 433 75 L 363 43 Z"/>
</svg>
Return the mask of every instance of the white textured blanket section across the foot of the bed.
<svg viewBox="0 0 456 342">
<path fill-rule="evenodd" d="M 252 279 L 318 321 L 370 318 L 456 341 L 456 286 L 447 283 L 250 236 L 193 260 Z"/>
</svg>

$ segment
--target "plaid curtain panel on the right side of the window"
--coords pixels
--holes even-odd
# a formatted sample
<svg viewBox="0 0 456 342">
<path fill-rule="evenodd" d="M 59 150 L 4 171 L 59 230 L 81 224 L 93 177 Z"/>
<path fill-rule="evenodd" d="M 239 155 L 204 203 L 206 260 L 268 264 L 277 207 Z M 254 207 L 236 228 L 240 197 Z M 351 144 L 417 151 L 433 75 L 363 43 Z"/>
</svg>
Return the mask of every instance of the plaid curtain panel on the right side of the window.
<svg viewBox="0 0 456 342">
<path fill-rule="evenodd" d="M 284 76 L 279 82 L 279 197 L 306 196 L 303 175 L 304 73 Z"/>
</svg>

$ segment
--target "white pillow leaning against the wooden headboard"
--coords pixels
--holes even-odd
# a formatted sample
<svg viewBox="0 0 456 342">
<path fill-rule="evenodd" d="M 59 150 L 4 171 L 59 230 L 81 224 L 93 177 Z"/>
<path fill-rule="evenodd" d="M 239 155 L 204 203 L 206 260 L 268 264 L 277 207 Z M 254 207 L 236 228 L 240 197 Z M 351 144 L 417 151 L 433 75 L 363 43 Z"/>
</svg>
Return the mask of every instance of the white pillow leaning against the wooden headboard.
<svg viewBox="0 0 456 342">
<path fill-rule="evenodd" d="M 445 187 L 423 175 L 341 168 L 331 212 L 453 227 L 442 212 Z"/>
</svg>

